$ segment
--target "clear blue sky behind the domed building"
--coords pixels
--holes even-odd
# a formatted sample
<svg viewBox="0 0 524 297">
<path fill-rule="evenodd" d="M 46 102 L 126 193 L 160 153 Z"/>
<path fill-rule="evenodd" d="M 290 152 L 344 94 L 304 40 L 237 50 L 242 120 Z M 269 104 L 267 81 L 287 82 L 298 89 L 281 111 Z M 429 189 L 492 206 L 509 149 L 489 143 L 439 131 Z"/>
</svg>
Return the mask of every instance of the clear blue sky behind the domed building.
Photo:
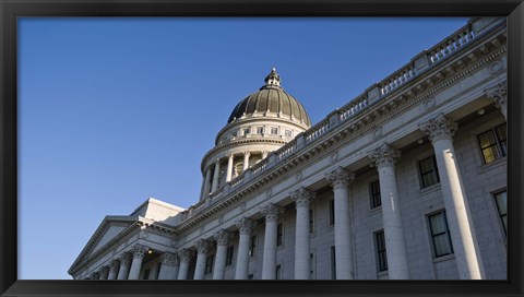
<svg viewBox="0 0 524 297">
<path fill-rule="evenodd" d="M 275 67 L 313 123 L 467 19 L 19 19 L 19 278 L 70 280 L 106 215 L 198 202 Z"/>
</svg>

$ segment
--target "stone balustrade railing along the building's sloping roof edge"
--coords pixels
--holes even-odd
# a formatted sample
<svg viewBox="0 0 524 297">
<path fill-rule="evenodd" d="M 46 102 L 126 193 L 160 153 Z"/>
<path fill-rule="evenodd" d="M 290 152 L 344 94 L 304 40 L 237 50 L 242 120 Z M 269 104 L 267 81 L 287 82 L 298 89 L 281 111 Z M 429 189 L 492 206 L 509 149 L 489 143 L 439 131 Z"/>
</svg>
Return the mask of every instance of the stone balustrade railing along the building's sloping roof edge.
<svg viewBox="0 0 524 297">
<path fill-rule="evenodd" d="M 503 17 L 473 19 L 467 25 L 451 34 L 448 38 L 443 39 L 431 49 L 424 50 L 413 58 L 409 63 L 402 67 L 384 80 L 371 85 L 364 94 L 360 94 L 348 104 L 331 112 L 326 118 L 309 128 L 307 131 L 298 134 L 293 141 L 247 169 L 242 175 L 238 176 L 234 182 L 227 182 L 225 186 L 211 193 L 211 204 L 222 200 L 223 197 L 231 192 L 231 190 L 242 187 L 257 176 L 260 176 L 270 168 L 285 162 L 289 156 L 301 152 L 305 146 L 309 146 L 311 143 L 317 142 L 320 138 L 327 134 L 329 131 L 333 130 L 342 122 L 350 120 L 370 106 L 389 96 L 390 93 L 400 86 L 431 69 L 440 61 L 453 56 L 453 54 L 467 46 L 479 35 L 504 23 L 504 20 L 505 19 Z M 249 176 L 249 178 L 245 178 L 245 176 Z M 200 206 L 198 209 L 200 211 L 204 207 Z M 193 210 L 188 217 L 195 213 L 196 211 Z"/>
</svg>

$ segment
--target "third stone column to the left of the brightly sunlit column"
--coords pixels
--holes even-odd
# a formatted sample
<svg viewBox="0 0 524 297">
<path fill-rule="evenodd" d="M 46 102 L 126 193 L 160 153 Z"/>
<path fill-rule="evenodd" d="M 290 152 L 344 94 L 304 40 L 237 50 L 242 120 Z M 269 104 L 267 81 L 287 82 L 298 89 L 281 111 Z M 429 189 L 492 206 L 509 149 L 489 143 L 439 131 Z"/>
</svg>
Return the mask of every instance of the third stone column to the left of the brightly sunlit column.
<svg viewBox="0 0 524 297">
<path fill-rule="evenodd" d="M 309 280 L 309 204 L 314 192 L 303 187 L 290 193 L 297 209 L 295 230 L 295 280 Z"/>
</svg>

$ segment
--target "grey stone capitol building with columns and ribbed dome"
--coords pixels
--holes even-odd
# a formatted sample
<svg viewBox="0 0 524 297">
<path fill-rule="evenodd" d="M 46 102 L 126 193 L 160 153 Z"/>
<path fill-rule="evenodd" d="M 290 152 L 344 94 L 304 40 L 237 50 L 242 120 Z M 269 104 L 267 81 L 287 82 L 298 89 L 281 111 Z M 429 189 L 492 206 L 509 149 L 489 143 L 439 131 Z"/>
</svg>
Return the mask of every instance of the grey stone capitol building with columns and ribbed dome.
<svg viewBox="0 0 524 297">
<path fill-rule="evenodd" d="M 505 280 L 507 61 L 505 17 L 474 17 L 317 123 L 261 73 L 195 203 L 106 216 L 69 274 Z"/>
</svg>

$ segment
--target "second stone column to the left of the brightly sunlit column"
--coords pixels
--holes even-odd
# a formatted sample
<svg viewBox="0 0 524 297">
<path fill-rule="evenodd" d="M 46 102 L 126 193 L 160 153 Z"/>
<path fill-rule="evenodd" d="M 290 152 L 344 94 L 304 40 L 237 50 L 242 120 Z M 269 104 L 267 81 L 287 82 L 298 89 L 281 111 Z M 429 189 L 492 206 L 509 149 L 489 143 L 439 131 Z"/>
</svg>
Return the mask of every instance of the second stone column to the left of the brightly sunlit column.
<svg viewBox="0 0 524 297">
<path fill-rule="evenodd" d="M 335 204 L 335 259 L 336 280 L 354 280 L 352 229 L 349 217 L 349 192 L 347 186 L 355 174 L 338 167 L 326 174 L 325 178 L 333 187 Z"/>
</svg>

